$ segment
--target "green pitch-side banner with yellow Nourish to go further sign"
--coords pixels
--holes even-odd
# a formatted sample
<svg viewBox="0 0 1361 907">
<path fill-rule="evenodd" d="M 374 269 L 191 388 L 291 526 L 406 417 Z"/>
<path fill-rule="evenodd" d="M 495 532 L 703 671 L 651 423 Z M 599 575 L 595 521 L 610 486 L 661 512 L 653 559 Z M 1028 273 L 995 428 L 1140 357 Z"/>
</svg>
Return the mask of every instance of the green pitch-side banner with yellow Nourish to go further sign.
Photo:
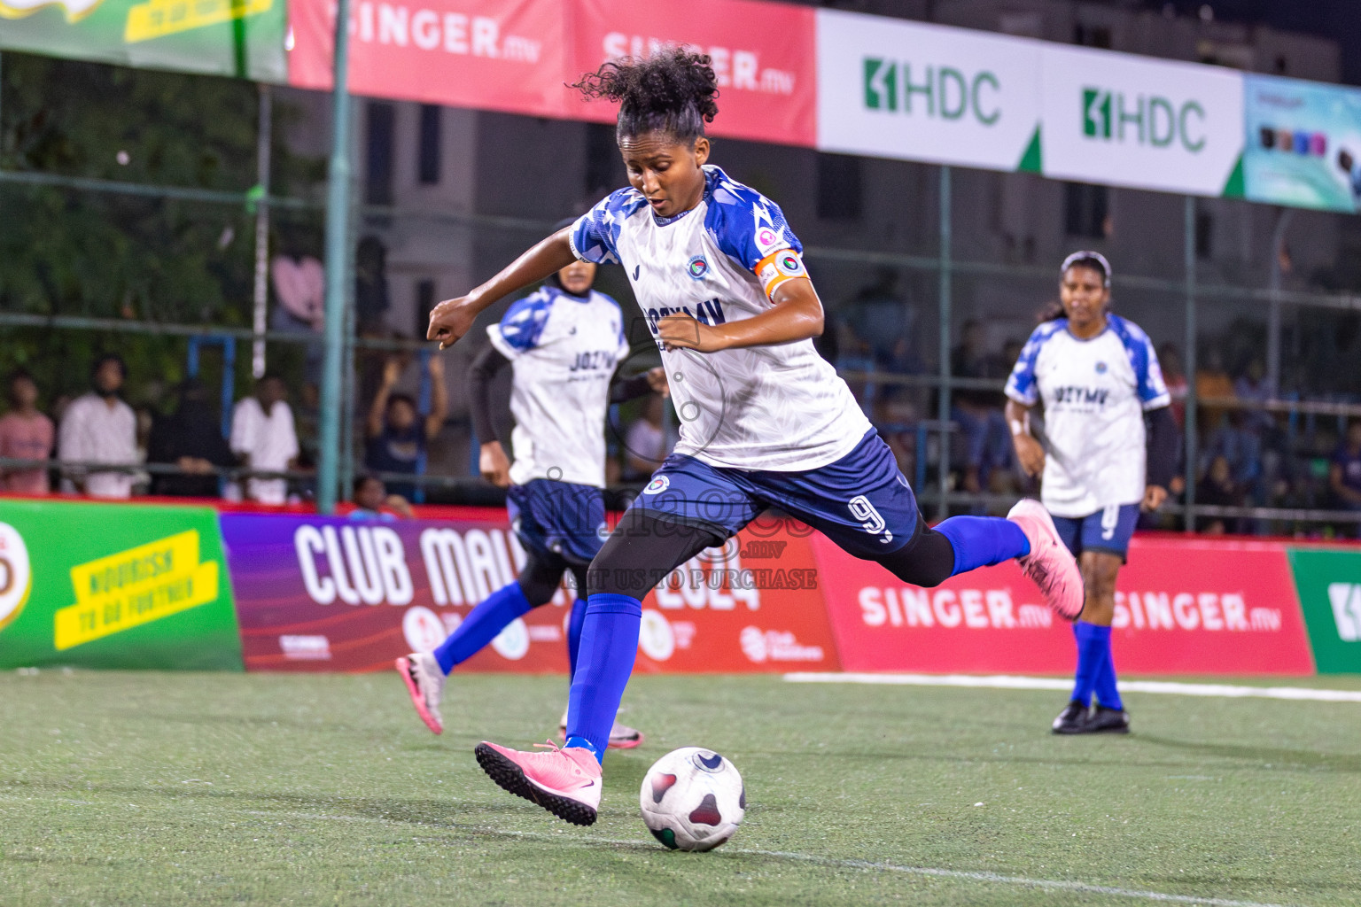
<svg viewBox="0 0 1361 907">
<path fill-rule="evenodd" d="M 218 514 L 0 500 L 0 669 L 241 670 Z"/>
</svg>

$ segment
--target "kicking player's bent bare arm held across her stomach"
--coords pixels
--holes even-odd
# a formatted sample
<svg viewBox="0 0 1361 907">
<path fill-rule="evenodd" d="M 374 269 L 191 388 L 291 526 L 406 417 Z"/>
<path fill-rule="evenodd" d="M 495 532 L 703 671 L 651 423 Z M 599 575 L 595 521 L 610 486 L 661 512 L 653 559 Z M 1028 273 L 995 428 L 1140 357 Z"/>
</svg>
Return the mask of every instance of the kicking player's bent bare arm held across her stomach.
<svg viewBox="0 0 1361 907">
<path fill-rule="evenodd" d="M 822 301 L 813 281 L 787 280 L 770 299 L 773 309 L 759 315 L 724 325 L 700 324 L 690 315 L 667 315 L 657 321 L 657 337 L 667 349 L 740 349 L 774 347 L 822 335 Z"/>
</svg>

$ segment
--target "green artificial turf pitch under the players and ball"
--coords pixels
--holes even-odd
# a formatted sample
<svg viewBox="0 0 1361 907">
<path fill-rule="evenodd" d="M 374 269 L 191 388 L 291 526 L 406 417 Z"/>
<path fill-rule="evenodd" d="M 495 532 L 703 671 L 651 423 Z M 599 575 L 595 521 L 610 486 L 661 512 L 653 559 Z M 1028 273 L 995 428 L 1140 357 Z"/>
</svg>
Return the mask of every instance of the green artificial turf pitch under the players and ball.
<svg viewBox="0 0 1361 907">
<path fill-rule="evenodd" d="M 638 677 L 580 829 L 472 759 L 563 695 L 456 677 L 436 737 L 395 674 L 7 673 L 0 904 L 1361 904 L 1361 704 L 1135 694 L 1135 734 L 1056 738 L 1053 692 Z M 691 744 L 747 785 L 710 854 L 638 819 Z"/>
</svg>

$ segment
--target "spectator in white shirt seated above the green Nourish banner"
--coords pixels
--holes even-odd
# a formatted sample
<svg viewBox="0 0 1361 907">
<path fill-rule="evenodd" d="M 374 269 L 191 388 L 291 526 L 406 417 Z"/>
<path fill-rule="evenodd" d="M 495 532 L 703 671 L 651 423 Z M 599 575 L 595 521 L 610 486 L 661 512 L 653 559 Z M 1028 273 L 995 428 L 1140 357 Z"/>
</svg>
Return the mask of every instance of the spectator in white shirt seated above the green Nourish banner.
<svg viewBox="0 0 1361 907">
<path fill-rule="evenodd" d="M 132 465 L 137 461 L 137 416 L 118 398 L 127 366 L 117 355 L 99 356 L 94 363 L 94 390 L 76 397 L 61 416 L 57 450 L 63 462 L 106 462 Z M 128 498 L 136 475 L 132 472 L 65 468 L 73 491 L 93 498 Z"/>
</svg>

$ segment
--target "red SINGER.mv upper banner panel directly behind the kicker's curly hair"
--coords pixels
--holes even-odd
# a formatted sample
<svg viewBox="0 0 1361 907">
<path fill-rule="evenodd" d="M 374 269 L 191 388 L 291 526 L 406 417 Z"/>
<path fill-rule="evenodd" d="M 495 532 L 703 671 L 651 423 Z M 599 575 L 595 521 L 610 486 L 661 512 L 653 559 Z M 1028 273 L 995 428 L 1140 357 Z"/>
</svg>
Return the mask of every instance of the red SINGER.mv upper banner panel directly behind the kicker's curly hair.
<svg viewBox="0 0 1361 907">
<path fill-rule="evenodd" d="M 709 54 L 721 113 L 710 135 L 811 147 L 817 140 L 814 11 L 757 0 L 580 0 L 572 16 L 576 82 L 615 57 L 666 45 Z M 618 107 L 568 99 L 573 118 L 614 122 Z"/>
</svg>

